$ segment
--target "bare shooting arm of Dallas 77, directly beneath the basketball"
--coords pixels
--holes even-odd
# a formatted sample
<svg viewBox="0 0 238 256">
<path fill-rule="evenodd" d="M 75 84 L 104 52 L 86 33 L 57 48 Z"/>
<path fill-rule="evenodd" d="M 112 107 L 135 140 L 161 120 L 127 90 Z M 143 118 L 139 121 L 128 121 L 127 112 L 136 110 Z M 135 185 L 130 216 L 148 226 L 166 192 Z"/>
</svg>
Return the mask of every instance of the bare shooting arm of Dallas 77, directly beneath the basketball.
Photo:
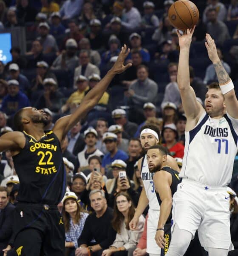
<svg viewBox="0 0 238 256">
<path fill-rule="evenodd" d="M 204 111 L 201 104 L 197 102 L 195 92 L 190 86 L 189 50 L 194 29 L 195 26 L 193 27 L 193 29 L 187 29 L 184 35 L 180 35 L 177 31 L 180 47 L 177 81 L 187 121 L 198 121 L 199 117 Z"/>
</svg>

